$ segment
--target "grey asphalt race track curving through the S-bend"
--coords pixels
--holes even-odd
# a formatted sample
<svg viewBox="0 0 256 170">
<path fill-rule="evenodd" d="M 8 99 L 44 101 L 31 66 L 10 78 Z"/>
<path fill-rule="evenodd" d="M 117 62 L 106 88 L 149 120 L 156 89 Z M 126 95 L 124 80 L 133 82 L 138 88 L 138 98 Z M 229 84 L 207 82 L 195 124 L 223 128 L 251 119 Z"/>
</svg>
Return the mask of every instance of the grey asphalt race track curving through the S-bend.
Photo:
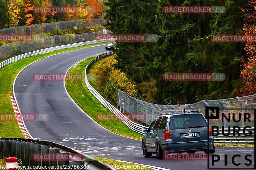
<svg viewBox="0 0 256 170">
<path fill-rule="evenodd" d="M 34 139 L 49 140 L 73 147 L 88 155 L 109 159 L 175 170 L 207 169 L 205 160 L 157 160 L 155 155 L 152 158 L 144 158 L 141 141 L 116 135 L 92 121 L 70 99 L 63 81 L 33 79 L 33 75 L 37 73 L 66 73 L 76 62 L 105 51 L 105 45 L 69 51 L 41 59 L 20 72 L 14 86 L 20 112 L 49 115 L 47 121 L 25 121 L 31 136 Z M 216 147 L 215 152 L 228 155 L 234 153 L 253 155 L 253 149 Z M 228 160 L 228 166 L 230 162 Z"/>
</svg>

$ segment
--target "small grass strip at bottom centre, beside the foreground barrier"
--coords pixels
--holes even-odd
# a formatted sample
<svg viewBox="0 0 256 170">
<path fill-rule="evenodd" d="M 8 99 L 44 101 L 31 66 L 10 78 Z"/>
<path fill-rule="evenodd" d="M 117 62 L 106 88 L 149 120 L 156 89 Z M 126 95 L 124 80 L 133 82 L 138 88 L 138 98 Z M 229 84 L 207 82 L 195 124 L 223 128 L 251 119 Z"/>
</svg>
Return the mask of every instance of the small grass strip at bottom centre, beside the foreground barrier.
<svg viewBox="0 0 256 170">
<path fill-rule="evenodd" d="M 132 164 L 132 163 L 126 163 L 126 162 L 121 162 L 117 160 L 112 160 L 112 159 L 106 159 L 106 158 L 99 158 L 99 157 L 94 157 L 95 159 L 106 163 L 108 165 L 112 165 L 112 167 L 116 169 L 145 169 L 145 170 L 151 170 L 152 168 L 140 166 L 137 164 Z"/>
</svg>

